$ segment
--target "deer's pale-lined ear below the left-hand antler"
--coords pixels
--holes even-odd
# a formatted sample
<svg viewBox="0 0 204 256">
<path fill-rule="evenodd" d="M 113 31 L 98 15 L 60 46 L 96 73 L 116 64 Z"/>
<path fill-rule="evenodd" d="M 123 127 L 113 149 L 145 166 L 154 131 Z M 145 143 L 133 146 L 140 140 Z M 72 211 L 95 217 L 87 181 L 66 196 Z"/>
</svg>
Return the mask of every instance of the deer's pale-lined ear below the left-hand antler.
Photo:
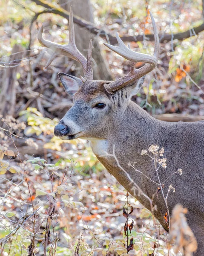
<svg viewBox="0 0 204 256">
<path fill-rule="evenodd" d="M 79 90 L 79 87 L 82 85 L 81 79 L 75 76 L 64 74 L 62 72 L 60 72 L 58 76 L 66 93 L 73 97 Z"/>
</svg>

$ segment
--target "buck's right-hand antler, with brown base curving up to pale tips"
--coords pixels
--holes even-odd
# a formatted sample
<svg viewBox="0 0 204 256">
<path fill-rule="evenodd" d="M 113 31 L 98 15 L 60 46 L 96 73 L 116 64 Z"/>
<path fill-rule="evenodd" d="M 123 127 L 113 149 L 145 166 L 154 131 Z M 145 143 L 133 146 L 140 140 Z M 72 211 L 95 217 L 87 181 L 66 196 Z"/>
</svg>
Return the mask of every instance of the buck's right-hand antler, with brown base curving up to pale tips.
<svg viewBox="0 0 204 256">
<path fill-rule="evenodd" d="M 126 76 L 124 76 L 116 81 L 113 81 L 113 82 L 105 85 L 105 88 L 109 93 L 113 93 L 116 90 L 119 90 L 123 87 L 134 84 L 135 80 L 141 78 L 142 76 L 149 73 L 156 67 L 157 61 L 158 61 L 158 55 L 159 55 L 159 37 L 158 37 L 155 20 L 152 16 L 152 13 L 151 12 L 149 12 L 149 13 L 151 16 L 153 32 L 154 32 L 154 36 L 155 36 L 155 50 L 154 50 L 153 56 L 147 55 L 144 53 L 134 52 L 131 49 L 127 48 L 125 46 L 125 44 L 123 43 L 123 41 L 121 40 L 121 38 L 118 36 L 118 34 L 116 34 L 116 38 L 117 38 L 117 41 L 119 44 L 118 47 L 104 43 L 106 45 L 106 47 L 108 47 L 112 51 L 118 53 L 119 55 L 123 56 L 127 60 L 132 61 L 132 65 L 131 65 L 129 74 L 127 74 Z M 139 69 L 135 69 L 135 62 L 137 62 L 137 61 L 145 62 L 147 64 L 145 64 L 143 67 L 141 67 Z"/>
</svg>

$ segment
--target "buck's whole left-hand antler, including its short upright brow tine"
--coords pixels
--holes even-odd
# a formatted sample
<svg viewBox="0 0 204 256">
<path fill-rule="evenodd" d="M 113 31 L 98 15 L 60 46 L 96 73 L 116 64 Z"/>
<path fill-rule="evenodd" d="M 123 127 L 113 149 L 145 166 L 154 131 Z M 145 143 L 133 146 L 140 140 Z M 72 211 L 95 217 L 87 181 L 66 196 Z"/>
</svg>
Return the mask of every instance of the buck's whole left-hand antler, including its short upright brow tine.
<svg viewBox="0 0 204 256">
<path fill-rule="evenodd" d="M 51 41 L 45 40 L 43 38 L 43 25 L 41 26 L 41 28 L 38 32 L 37 38 L 42 46 L 52 49 L 52 51 L 53 51 L 45 68 L 47 68 L 52 63 L 52 61 L 54 60 L 54 58 L 57 55 L 62 54 L 62 55 L 66 55 L 67 57 L 78 61 L 83 67 L 83 73 L 85 74 L 85 78 L 87 80 L 93 79 L 92 41 L 90 41 L 90 44 L 89 44 L 88 58 L 86 60 L 86 58 L 83 56 L 83 54 L 81 54 L 80 51 L 77 49 L 76 44 L 75 44 L 75 30 L 74 30 L 72 6 L 70 7 L 70 13 L 69 13 L 69 44 L 61 45 L 61 44 L 56 44 Z"/>
</svg>

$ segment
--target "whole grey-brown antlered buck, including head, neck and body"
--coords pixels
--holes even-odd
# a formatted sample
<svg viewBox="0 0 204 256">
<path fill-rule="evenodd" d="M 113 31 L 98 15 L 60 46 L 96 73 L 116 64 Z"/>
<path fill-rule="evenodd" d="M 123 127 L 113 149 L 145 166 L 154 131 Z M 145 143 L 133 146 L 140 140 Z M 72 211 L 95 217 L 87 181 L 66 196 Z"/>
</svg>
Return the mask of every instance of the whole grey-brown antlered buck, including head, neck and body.
<svg viewBox="0 0 204 256">
<path fill-rule="evenodd" d="M 141 151 L 150 145 L 164 147 L 167 169 L 159 172 L 161 183 L 165 185 L 164 194 L 167 195 L 168 185 L 172 184 L 175 187 L 175 193 L 168 195 L 169 212 L 171 214 L 173 207 L 178 203 L 187 207 L 187 221 L 198 241 L 198 251 L 195 255 L 200 256 L 204 255 L 204 122 L 159 121 L 131 101 L 131 96 L 142 86 L 145 74 L 153 70 L 158 61 L 158 32 L 151 13 L 150 16 L 155 35 L 153 56 L 134 52 L 125 47 L 118 35 L 119 47 L 105 44 L 109 49 L 132 61 L 129 74 L 117 81 L 93 80 L 92 42 L 90 41 L 86 59 L 75 45 L 72 8 L 69 17 L 68 45 L 46 41 L 42 37 L 43 26 L 40 28 L 40 44 L 53 51 L 46 67 L 56 55 L 63 54 L 79 61 L 85 75 L 84 78 L 76 78 L 59 73 L 60 81 L 65 91 L 72 96 L 74 105 L 55 126 L 54 133 L 62 140 L 89 140 L 98 160 L 148 209 L 150 203 L 145 195 L 152 198 L 155 194 L 158 185 L 152 180 L 158 181 L 158 177 L 154 163 L 148 156 L 142 156 Z M 146 64 L 135 69 L 137 61 Z M 129 165 L 134 162 L 140 172 Z M 172 175 L 179 168 L 183 169 L 183 175 Z M 129 177 L 138 184 L 143 191 L 142 194 L 135 194 L 135 185 L 130 182 Z M 167 207 L 161 193 L 154 197 L 153 205 L 157 206 L 157 210 L 154 211 L 155 217 L 168 230 L 164 220 Z"/>
</svg>

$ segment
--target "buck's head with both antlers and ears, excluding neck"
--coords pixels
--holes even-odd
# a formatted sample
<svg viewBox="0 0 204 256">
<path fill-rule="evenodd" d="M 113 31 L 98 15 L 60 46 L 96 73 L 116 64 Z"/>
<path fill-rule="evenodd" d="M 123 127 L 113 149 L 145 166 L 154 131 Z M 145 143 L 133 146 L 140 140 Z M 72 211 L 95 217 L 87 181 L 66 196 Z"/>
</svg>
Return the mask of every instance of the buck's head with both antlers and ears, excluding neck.
<svg viewBox="0 0 204 256">
<path fill-rule="evenodd" d="M 123 114 L 132 95 L 138 93 L 144 76 L 155 68 L 159 55 L 159 38 L 154 18 L 150 13 L 155 35 L 154 55 L 134 52 L 127 48 L 116 35 L 118 47 L 105 44 L 112 51 L 123 56 L 131 63 L 129 74 L 116 81 L 93 80 L 92 41 L 89 44 L 87 59 L 78 51 L 75 44 L 72 7 L 69 17 L 69 44 L 60 45 L 43 39 L 43 26 L 38 32 L 38 40 L 53 53 L 46 64 L 51 64 L 56 55 L 63 54 L 78 62 L 83 67 L 84 78 L 59 73 L 59 79 L 65 91 L 72 97 L 74 105 L 55 126 L 55 135 L 63 140 L 75 138 L 106 139 L 110 129 L 123 118 Z M 144 62 L 144 66 L 135 69 L 135 62 Z"/>
</svg>

